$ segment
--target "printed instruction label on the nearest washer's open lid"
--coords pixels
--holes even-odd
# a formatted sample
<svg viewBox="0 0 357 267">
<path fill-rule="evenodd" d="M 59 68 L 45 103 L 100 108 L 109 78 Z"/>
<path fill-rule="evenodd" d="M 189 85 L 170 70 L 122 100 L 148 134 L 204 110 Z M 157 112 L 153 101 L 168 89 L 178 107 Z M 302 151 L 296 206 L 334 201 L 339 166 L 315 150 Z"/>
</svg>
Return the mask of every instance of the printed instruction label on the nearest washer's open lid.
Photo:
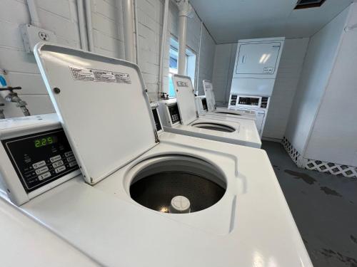
<svg viewBox="0 0 357 267">
<path fill-rule="evenodd" d="M 73 68 L 71 70 L 74 80 L 104 82 L 104 83 L 127 83 L 131 84 L 129 73 L 116 73 L 109 70 L 96 70 L 94 68 Z"/>
</svg>

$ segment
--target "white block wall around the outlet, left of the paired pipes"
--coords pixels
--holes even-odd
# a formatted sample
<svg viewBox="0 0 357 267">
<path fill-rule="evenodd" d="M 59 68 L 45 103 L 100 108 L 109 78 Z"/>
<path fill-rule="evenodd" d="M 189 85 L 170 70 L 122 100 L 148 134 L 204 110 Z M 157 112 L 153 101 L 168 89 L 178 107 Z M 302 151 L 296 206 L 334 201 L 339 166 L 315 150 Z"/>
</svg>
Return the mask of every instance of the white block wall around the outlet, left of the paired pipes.
<svg viewBox="0 0 357 267">
<path fill-rule="evenodd" d="M 38 4 L 39 18 L 47 29 L 56 31 L 58 42 L 79 48 L 75 1 L 41 0 Z M 34 56 L 24 53 L 19 25 L 29 21 L 26 1 L 0 0 L 0 68 L 8 71 L 6 79 L 10 85 L 23 88 L 19 93 L 32 113 L 54 112 Z M 2 99 L 0 102 L 4 103 Z M 6 103 L 4 112 L 8 117 L 22 115 L 14 104 Z"/>
</svg>

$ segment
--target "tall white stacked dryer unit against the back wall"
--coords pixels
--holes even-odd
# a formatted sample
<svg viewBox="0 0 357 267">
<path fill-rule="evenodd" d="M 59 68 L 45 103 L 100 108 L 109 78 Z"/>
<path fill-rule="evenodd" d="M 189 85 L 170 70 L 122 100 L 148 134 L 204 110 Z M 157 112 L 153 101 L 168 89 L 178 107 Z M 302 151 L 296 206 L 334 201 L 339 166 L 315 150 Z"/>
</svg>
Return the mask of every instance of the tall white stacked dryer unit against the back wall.
<svg viewBox="0 0 357 267">
<path fill-rule="evenodd" d="M 285 38 L 238 41 L 228 108 L 253 110 L 263 135 Z"/>
</svg>

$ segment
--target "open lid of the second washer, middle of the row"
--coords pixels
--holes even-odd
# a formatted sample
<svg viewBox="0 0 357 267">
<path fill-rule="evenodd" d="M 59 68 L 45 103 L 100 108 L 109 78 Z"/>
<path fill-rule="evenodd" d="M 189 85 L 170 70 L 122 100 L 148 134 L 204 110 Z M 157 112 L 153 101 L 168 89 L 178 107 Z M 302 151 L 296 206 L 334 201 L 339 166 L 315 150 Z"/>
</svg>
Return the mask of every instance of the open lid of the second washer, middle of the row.
<svg viewBox="0 0 357 267">
<path fill-rule="evenodd" d="M 178 110 L 181 115 L 181 121 L 183 125 L 189 125 L 198 117 L 195 93 L 192 87 L 191 78 L 176 74 L 172 79 L 176 90 L 176 99 Z"/>
</svg>

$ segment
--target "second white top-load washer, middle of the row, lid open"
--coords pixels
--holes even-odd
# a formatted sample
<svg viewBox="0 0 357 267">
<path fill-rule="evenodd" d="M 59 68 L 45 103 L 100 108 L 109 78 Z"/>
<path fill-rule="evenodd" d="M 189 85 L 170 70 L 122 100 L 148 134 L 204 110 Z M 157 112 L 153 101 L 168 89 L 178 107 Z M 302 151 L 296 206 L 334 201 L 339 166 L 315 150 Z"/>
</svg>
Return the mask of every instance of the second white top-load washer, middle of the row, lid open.
<svg viewBox="0 0 357 267">
<path fill-rule="evenodd" d="M 164 130 L 220 142 L 249 147 L 261 147 L 261 140 L 253 120 L 232 117 L 200 117 L 196 108 L 191 78 L 174 75 L 176 99 L 159 101 Z"/>
</svg>

